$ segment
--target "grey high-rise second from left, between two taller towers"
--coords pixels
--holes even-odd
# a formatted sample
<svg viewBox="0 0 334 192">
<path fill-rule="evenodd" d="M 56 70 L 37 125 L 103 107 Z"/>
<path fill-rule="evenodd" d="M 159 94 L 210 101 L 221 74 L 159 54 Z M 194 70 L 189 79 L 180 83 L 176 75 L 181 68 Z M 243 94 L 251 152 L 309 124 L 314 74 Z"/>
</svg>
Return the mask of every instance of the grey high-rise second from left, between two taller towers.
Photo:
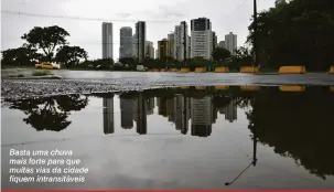
<svg viewBox="0 0 334 192">
<path fill-rule="evenodd" d="M 132 29 L 130 26 L 123 26 L 119 30 L 120 34 L 120 46 L 119 57 L 131 57 L 132 56 Z"/>
</svg>

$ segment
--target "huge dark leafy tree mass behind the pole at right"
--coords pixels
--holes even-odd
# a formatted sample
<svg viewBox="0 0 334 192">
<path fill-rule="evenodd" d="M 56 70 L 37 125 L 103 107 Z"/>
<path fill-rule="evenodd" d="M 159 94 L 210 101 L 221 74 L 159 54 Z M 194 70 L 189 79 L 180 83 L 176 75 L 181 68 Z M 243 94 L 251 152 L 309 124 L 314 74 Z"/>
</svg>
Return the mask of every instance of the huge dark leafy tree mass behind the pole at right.
<svg viewBox="0 0 334 192">
<path fill-rule="evenodd" d="M 334 54 L 334 1 L 293 0 L 277 4 L 258 15 L 259 58 L 270 67 L 304 65 L 328 70 Z M 254 43 L 255 23 L 247 42 Z"/>
</svg>

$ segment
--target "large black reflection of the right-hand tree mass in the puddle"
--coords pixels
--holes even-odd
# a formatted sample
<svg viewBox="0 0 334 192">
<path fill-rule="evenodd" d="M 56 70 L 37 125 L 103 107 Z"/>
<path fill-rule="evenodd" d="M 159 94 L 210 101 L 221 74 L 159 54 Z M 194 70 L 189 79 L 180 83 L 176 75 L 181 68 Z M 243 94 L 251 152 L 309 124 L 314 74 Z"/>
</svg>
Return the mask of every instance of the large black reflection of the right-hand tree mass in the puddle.
<svg viewBox="0 0 334 192">
<path fill-rule="evenodd" d="M 247 114 L 260 142 L 290 157 L 311 173 L 334 175 L 334 95 L 321 88 L 308 93 L 266 89 Z"/>
</svg>

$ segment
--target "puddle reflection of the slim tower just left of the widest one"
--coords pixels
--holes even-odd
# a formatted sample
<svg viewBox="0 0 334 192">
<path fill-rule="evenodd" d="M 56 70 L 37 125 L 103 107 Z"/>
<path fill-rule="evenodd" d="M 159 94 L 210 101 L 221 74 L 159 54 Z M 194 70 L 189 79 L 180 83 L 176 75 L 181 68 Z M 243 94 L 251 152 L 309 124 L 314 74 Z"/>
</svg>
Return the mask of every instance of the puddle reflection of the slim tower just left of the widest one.
<svg viewBox="0 0 334 192">
<path fill-rule="evenodd" d="M 186 134 L 188 129 L 188 99 L 183 95 L 177 94 L 174 97 L 174 114 L 175 114 L 175 128 L 181 130 L 182 134 Z"/>
</svg>

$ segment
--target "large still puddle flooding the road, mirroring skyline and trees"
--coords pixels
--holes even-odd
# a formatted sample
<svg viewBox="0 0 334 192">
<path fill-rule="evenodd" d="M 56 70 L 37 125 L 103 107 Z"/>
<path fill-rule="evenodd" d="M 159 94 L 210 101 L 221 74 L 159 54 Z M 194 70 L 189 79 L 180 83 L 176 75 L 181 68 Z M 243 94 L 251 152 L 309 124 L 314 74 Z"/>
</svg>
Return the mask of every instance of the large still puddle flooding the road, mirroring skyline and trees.
<svg viewBox="0 0 334 192">
<path fill-rule="evenodd" d="M 2 188 L 334 189 L 333 114 L 328 86 L 7 99 Z M 83 183 L 12 183 L 11 149 L 73 150 L 89 172 Z"/>
</svg>

